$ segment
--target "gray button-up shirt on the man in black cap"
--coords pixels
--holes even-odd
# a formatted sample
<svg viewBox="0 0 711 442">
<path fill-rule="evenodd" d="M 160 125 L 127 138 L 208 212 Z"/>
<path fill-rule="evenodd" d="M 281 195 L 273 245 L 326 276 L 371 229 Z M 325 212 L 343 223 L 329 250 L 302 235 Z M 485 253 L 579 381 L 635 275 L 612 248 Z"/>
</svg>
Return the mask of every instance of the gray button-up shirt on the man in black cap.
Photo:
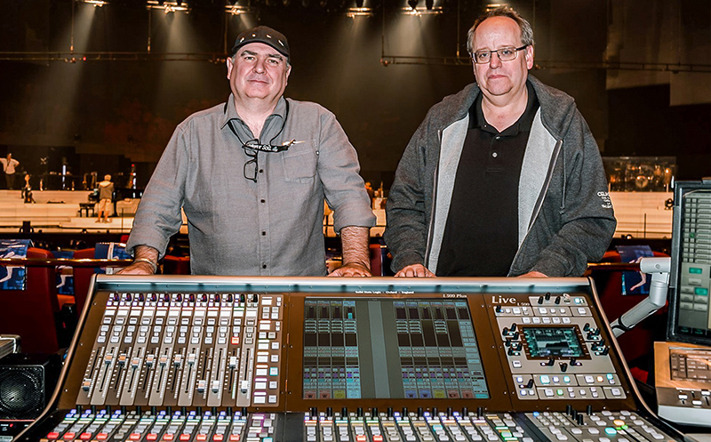
<svg viewBox="0 0 711 442">
<path fill-rule="evenodd" d="M 188 218 L 190 265 L 196 275 L 322 276 L 324 198 L 336 231 L 372 227 L 356 149 L 336 117 L 316 103 L 280 99 L 259 140 L 300 141 L 253 157 L 243 142 L 257 137 L 237 115 L 233 96 L 180 123 L 148 183 L 127 249 L 165 253 Z M 230 125 L 232 126 L 230 128 Z M 281 131 L 281 133 L 280 133 Z M 278 136 L 276 136 L 278 133 Z M 272 139 L 276 136 L 276 139 Z M 241 139 L 241 141 L 240 141 Z"/>
</svg>

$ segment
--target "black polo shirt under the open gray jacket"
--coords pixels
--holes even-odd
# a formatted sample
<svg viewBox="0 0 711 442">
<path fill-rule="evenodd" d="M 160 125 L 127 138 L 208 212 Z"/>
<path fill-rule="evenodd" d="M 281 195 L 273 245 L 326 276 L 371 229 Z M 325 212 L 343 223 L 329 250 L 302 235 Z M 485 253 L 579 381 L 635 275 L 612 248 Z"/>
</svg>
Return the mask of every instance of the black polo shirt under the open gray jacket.
<svg viewBox="0 0 711 442">
<path fill-rule="evenodd" d="M 482 95 L 469 108 L 444 228 L 437 276 L 505 277 L 518 249 L 518 179 L 539 100 L 530 82 L 528 104 L 500 132 L 483 117 Z"/>
</svg>

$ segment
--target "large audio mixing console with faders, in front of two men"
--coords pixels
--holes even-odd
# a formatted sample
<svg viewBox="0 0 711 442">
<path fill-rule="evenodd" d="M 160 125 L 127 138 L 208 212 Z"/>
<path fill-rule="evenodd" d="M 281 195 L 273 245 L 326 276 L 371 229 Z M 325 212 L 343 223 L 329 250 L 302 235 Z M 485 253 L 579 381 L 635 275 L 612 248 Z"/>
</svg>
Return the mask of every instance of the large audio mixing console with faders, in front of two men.
<svg viewBox="0 0 711 442">
<path fill-rule="evenodd" d="M 19 441 L 683 440 L 584 278 L 99 276 Z"/>
</svg>

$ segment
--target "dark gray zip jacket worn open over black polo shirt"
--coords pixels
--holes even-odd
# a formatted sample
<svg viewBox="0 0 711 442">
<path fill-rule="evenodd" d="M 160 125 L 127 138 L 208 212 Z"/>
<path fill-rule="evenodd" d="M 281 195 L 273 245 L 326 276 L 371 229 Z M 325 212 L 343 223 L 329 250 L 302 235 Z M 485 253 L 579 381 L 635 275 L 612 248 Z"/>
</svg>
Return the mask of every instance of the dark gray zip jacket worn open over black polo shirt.
<svg viewBox="0 0 711 442">
<path fill-rule="evenodd" d="M 528 78 L 540 108 L 523 156 L 518 251 L 507 276 L 535 270 L 577 277 L 588 261 L 602 258 L 617 224 L 603 162 L 571 96 Z M 479 92 L 469 84 L 430 108 L 403 153 L 386 205 L 384 237 L 394 271 L 420 263 L 436 273 L 468 111 Z"/>
</svg>

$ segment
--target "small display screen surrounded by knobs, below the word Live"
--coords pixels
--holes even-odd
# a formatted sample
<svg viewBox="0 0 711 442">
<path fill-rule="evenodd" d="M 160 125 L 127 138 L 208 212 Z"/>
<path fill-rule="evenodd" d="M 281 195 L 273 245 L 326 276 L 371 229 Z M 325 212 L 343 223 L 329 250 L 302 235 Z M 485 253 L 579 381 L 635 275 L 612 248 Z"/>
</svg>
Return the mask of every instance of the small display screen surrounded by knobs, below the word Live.
<svg viewBox="0 0 711 442">
<path fill-rule="evenodd" d="M 577 327 L 523 327 L 531 358 L 582 358 L 585 347 Z"/>
</svg>

